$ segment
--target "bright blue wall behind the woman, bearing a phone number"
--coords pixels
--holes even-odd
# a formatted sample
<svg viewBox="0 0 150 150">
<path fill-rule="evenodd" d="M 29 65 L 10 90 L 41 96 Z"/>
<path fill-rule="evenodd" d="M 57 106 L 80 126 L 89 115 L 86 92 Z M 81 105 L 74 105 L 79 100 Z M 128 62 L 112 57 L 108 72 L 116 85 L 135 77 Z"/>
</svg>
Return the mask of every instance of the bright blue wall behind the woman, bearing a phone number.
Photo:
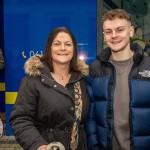
<svg viewBox="0 0 150 150">
<path fill-rule="evenodd" d="M 75 35 L 79 54 L 91 63 L 96 55 L 96 0 L 4 0 L 6 134 L 24 62 L 42 54 L 50 31 L 66 26 Z M 12 94 L 12 96 L 11 96 Z"/>
</svg>

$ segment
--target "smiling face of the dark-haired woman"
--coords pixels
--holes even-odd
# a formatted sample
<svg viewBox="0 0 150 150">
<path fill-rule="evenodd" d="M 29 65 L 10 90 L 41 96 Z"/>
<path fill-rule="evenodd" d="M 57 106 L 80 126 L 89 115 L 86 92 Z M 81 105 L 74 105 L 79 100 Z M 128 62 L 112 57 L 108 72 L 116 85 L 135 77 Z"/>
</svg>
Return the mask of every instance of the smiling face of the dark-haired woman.
<svg viewBox="0 0 150 150">
<path fill-rule="evenodd" d="M 53 64 L 70 64 L 73 57 L 73 41 L 68 33 L 57 34 L 51 46 Z"/>
</svg>

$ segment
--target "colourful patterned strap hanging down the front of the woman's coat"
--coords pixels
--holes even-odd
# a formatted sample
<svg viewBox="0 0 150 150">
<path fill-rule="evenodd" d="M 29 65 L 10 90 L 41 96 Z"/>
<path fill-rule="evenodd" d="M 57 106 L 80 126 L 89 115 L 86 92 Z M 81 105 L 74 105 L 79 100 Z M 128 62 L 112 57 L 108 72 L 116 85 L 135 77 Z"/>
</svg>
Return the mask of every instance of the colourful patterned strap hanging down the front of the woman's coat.
<svg viewBox="0 0 150 150">
<path fill-rule="evenodd" d="M 78 131 L 79 125 L 81 121 L 82 114 L 82 97 L 81 97 L 81 87 L 80 82 L 75 83 L 74 85 L 74 93 L 75 93 L 75 122 L 73 124 L 72 135 L 71 135 L 71 143 L 70 147 L 72 150 L 75 150 L 78 146 Z"/>
</svg>

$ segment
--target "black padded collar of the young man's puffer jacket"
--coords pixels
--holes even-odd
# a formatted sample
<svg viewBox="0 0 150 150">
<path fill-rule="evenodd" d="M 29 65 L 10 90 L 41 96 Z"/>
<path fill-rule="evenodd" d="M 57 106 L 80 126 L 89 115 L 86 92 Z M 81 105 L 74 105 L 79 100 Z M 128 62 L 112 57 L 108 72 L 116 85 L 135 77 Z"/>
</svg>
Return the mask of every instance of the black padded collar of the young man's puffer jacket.
<svg viewBox="0 0 150 150">
<path fill-rule="evenodd" d="M 131 50 L 134 52 L 134 55 L 133 55 L 134 65 L 138 66 L 139 63 L 143 60 L 144 52 L 143 52 L 142 48 L 136 43 L 131 43 L 130 47 L 131 47 Z M 111 55 L 111 50 L 110 50 L 110 48 L 107 47 L 104 50 L 102 50 L 96 56 L 96 58 L 100 61 L 108 62 L 110 55 Z"/>
</svg>

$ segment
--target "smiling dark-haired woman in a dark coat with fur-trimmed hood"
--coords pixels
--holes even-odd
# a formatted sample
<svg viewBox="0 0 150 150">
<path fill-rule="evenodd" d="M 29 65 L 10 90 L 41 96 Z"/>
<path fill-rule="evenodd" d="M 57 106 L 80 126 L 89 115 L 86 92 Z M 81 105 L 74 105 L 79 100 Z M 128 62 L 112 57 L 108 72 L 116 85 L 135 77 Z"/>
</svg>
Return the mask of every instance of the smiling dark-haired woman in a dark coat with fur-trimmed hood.
<svg viewBox="0 0 150 150">
<path fill-rule="evenodd" d="M 50 33 L 43 56 L 25 63 L 27 76 L 10 116 L 16 140 L 25 150 L 45 150 L 51 142 L 62 143 L 65 150 L 87 149 L 87 70 L 87 65 L 77 63 L 75 37 L 64 27 Z"/>
</svg>

